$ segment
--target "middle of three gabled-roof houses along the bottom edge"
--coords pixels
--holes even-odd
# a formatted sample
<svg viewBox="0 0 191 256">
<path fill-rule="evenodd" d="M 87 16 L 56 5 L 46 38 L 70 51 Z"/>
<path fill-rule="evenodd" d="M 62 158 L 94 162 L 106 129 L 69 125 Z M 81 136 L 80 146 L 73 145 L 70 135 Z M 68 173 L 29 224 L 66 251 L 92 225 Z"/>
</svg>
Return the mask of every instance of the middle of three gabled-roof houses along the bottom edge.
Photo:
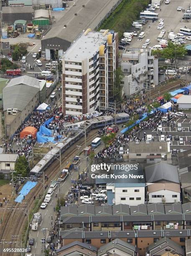
<svg viewBox="0 0 191 256">
<path fill-rule="evenodd" d="M 106 245 L 101 246 L 97 251 L 97 256 L 120 255 L 136 256 L 138 249 L 130 243 L 120 239 L 115 239 Z"/>
</svg>

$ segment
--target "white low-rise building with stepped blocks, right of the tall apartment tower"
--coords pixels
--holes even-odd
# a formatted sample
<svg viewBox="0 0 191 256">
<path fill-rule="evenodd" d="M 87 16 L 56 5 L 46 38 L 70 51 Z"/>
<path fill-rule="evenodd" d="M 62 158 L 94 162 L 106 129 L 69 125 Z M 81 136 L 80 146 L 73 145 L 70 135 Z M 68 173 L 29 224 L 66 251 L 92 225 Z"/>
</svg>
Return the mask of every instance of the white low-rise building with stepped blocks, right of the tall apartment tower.
<svg viewBox="0 0 191 256">
<path fill-rule="evenodd" d="M 131 49 L 121 56 L 123 93 L 125 96 L 137 94 L 150 86 L 158 85 L 158 59 L 151 50 Z"/>
</svg>

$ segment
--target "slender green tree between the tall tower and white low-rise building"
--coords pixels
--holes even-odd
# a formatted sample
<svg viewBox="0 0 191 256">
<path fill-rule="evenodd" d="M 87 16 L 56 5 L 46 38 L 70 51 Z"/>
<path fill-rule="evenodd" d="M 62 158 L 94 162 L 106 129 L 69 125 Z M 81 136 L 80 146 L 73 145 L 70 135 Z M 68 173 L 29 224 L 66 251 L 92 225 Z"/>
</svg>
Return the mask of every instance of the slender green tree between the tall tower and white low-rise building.
<svg viewBox="0 0 191 256">
<path fill-rule="evenodd" d="M 122 86 L 121 86 L 121 80 L 123 79 L 124 75 L 121 70 L 121 67 L 118 67 L 114 71 L 114 82 L 113 82 L 113 95 L 114 99 L 117 100 L 117 102 L 122 101 Z"/>
</svg>

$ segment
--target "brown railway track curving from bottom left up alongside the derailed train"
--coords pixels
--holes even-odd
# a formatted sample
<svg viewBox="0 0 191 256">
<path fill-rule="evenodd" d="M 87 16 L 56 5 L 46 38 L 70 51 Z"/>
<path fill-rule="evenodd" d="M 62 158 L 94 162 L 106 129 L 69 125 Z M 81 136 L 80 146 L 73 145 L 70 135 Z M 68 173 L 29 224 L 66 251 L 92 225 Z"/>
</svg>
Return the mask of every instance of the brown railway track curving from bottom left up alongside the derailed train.
<svg viewBox="0 0 191 256">
<path fill-rule="evenodd" d="M 96 130 L 92 130 L 89 132 L 89 136 L 87 137 L 87 143 L 90 143 L 92 141 L 92 139 L 97 135 L 97 129 Z M 64 164 L 64 162 L 68 161 L 68 159 L 70 159 L 70 157 L 72 155 L 74 155 L 74 153 L 76 153 L 79 149 L 76 148 L 76 144 L 80 144 L 82 147 L 84 146 L 84 138 L 80 138 L 80 140 L 75 143 L 73 146 L 71 146 L 68 150 L 66 150 L 62 156 L 61 156 L 61 164 Z M 58 160 L 55 160 L 46 170 L 46 175 L 48 176 L 48 182 L 50 183 L 51 179 L 55 178 L 55 175 L 59 173 L 60 170 L 60 163 Z M 34 201 L 34 196 L 38 196 L 39 193 L 41 192 L 41 190 L 43 189 L 43 184 L 41 184 L 40 182 L 36 185 L 35 189 L 33 192 L 29 193 L 29 198 L 25 197 L 25 200 L 27 199 L 28 201 L 28 207 L 30 209 L 30 207 L 33 204 Z M 21 204 L 20 203 L 16 203 L 15 204 L 15 208 L 18 209 L 19 206 Z M 0 231 L 0 241 L 3 239 L 6 239 L 6 241 L 10 241 L 12 243 L 9 244 L 9 248 L 15 249 L 17 248 L 17 244 L 14 243 L 15 241 L 15 236 L 18 236 L 22 233 L 22 228 L 23 228 L 23 224 L 26 221 L 26 214 L 25 212 L 18 212 L 18 210 L 13 210 L 10 211 L 7 218 L 6 218 L 6 225 L 4 225 L 3 229 Z M 15 221 L 15 220 L 19 220 L 19 221 Z M 21 238 L 20 238 L 21 239 Z M 19 240 L 19 239 L 18 239 Z M 20 246 L 21 248 L 22 246 Z M 0 256 L 1 255 L 5 255 L 5 256 L 15 256 L 18 255 L 18 253 L 16 252 L 3 252 L 3 244 L 0 245 Z"/>
</svg>

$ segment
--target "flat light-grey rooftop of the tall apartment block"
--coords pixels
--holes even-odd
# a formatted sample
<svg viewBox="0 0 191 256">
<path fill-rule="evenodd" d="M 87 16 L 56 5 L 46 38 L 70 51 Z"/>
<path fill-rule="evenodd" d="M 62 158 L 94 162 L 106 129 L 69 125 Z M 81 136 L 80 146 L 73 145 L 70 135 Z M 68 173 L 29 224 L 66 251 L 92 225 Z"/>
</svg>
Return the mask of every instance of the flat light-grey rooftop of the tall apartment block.
<svg viewBox="0 0 191 256">
<path fill-rule="evenodd" d="M 113 32 L 112 32 L 113 33 Z M 107 36 L 111 34 L 109 30 L 85 31 L 74 41 L 71 47 L 64 53 L 64 59 L 71 61 L 82 61 L 91 57 L 99 51 L 99 46 L 104 45 Z"/>
</svg>

